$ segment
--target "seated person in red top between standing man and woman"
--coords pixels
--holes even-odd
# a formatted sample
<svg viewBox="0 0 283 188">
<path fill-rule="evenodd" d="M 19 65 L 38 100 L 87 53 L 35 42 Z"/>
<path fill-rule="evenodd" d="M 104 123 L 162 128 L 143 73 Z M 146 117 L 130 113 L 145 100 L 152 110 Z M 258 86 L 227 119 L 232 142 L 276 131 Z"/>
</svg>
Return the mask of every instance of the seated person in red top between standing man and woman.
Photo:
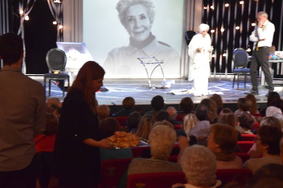
<svg viewBox="0 0 283 188">
<path fill-rule="evenodd" d="M 58 118 L 54 113 L 46 113 L 45 131 L 35 138 L 36 153 L 53 152 L 58 123 Z"/>
</svg>

